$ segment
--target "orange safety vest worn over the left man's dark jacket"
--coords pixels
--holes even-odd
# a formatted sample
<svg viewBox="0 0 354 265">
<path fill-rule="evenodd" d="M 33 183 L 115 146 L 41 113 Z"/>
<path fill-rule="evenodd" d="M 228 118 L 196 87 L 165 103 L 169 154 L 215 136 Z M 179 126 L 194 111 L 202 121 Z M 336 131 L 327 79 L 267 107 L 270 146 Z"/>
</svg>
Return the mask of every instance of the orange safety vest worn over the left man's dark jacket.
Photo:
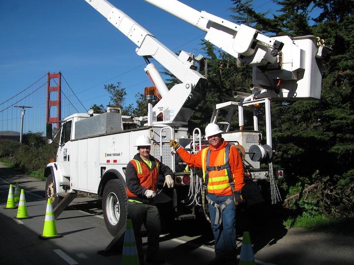
<svg viewBox="0 0 354 265">
<path fill-rule="evenodd" d="M 146 187 L 147 189 L 151 189 L 156 191 L 157 189 L 157 177 L 159 174 L 159 162 L 155 159 L 155 165 L 151 165 L 151 169 L 148 167 L 148 164 L 139 161 L 138 159 L 133 159 L 130 161 L 134 167 L 135 171 L 137 172 L 138 179 L 140 181 L 140 185 Z M 138 197 L 137 195 L 133 194 L 128 187 L 126 187 L 126 192 L 128 197 Z"/>
</svg>

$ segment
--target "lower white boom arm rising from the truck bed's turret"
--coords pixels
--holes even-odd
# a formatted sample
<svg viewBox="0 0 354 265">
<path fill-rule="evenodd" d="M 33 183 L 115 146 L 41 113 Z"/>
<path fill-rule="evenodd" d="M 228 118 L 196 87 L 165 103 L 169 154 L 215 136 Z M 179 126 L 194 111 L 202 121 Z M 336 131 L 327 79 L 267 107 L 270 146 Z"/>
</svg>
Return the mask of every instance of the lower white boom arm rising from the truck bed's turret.
<svg viewBox="0 0 354 265">
<path fill-rule="evenodd" d="M 145 70 L 150 71 L 149 76 L 162 96 L 162 99 L 152 108 L 153 124 L 187 124 L 193 109 L 204 97 L 204 84 L 207 81 L 203 75 L 191 69 L 194 67 L 194 55 L 181 51 L 177 56 L 148 30 L 107 0 L 86 1 L 138 46 L 136 49 L 138 55 L 145 58 L 153 57 L 181 81 L 168 90 L 156 68 L 148 64 Z"/>
</svg>

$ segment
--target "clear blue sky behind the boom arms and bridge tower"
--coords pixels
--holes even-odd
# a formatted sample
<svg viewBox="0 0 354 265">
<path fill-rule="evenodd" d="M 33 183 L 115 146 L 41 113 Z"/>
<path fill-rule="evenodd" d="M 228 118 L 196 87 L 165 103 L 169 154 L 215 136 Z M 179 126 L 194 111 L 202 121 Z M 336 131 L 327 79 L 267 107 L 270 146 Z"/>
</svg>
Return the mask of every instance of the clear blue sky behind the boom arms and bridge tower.
<svg viewBox="0 0 354 265">
<path fill-rule="evenodd" d="M 181 1 L 230 20 L 231 0 Z M 203 31 L 144 0 L 111 3 L 172 51 L 201 53 Z M 254 6 L 275 11 L 269 0 L 256 0 Z M 84 0 L 1 0 L 0 40 L 0 102 L 47 72 L 61 71 L 87 108 L 109 103 L 103 84 L 121 82 L 127 104 L 152 85 L 135 44 Z"/>
</svg>

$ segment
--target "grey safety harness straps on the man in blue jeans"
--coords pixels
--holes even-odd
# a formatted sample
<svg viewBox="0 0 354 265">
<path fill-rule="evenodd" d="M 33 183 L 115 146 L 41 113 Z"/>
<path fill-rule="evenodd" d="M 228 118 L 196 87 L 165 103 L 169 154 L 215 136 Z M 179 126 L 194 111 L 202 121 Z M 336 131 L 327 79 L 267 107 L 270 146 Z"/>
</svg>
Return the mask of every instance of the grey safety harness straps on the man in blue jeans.
<svg viewBox="0 0 354 265">
<path fill-rule="evenodd" d="M 228 177 L 229 177 L 229 183 L 230 183 L 231 190 L 232 190 L 232 192 L 234 192 L 235 183 L 232 178 L 231 168 L 230 168 L 230 164 L 229 164 L 230 147 L 231 147 L 231 144 L 227 144 L 225 147 L 225 164 L 218 165 L 218 166 L 210 166 L 209 165 L 211 150 L 210 150 L 210 148 L 207 150 L 207 164 L 206 164 L 205 182 L 204 182 L 204 189 L 205 190 L 207 190 L 207 184 L 208 184 L 208 180 L 209 180 L 209 171 L 226 169 Z M 206 197 L 207 197 L 208 204 L 215 207 L 215 210 L 216 210 L 214 225 L 218 224 L 220 226 L 222 223 L 222 211 L 232 202 L 232 200 L 230 198 L 228 198 L 224 203 L 218 204 L 218 203 L 212 201 L 207 195 L 206 195 Z"/>
</svg>

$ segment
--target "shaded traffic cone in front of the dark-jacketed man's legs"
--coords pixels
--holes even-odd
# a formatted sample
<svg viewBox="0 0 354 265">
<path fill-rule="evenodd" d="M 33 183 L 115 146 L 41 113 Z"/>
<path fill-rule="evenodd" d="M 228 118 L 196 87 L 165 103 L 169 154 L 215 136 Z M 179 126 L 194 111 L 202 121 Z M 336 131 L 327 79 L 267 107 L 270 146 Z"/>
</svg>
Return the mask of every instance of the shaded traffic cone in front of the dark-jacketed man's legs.
<svg viewBox="0 0 354 265">
<path fill-rule="evenodd" d="M 127 223 L 126 223 L 123 253 L 122 253 L 122 259 L 120 264 L 139 265 L 138 250 L 136 248 L 133 224 L 131 219 L 127 219 Z"/>
</svg>

